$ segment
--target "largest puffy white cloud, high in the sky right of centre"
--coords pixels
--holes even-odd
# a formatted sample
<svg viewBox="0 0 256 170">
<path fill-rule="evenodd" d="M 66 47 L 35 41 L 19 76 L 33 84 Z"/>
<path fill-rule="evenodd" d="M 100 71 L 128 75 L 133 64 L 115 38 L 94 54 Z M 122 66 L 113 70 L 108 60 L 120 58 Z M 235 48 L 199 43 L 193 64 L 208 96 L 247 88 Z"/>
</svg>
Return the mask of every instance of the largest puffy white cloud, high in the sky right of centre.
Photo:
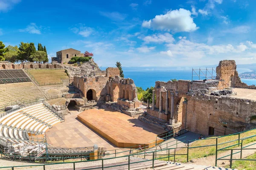
<svg viewBox="0 0 256 170">
<path fill-rule="evenodd" d="M 173 32 L 191 32 L 198 29 L 191 17 L 191 12 L 183 8 L 168 11 L 164 15 L 156 15 L 148 21 L 144 20 L 142 26 Z"/>
</svg>

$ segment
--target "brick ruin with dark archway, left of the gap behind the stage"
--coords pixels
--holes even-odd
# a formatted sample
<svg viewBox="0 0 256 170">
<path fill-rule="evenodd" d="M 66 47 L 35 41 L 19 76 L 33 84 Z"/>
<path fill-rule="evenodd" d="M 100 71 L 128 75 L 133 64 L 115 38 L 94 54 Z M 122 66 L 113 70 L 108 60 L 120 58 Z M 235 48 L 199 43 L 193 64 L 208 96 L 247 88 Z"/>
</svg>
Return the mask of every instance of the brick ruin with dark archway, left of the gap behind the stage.
<svg viewBox="0 0 256 170">
<path fill-rule="evenodd" d="M 129 109 L 141 105 L 132 79 L 120 78 L 118 68 L 107 68 L 105 73 L 105 76 L 74 76 L 73 84 L 88 101 L 117 102 Z"/>
</svg>

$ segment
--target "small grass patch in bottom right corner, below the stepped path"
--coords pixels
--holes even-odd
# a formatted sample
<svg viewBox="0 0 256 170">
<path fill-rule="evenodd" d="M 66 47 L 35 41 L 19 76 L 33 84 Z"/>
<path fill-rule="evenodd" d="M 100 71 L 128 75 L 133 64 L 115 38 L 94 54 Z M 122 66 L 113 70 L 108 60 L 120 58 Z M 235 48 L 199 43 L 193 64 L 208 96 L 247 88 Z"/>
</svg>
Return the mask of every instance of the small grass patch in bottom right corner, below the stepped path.
<svg viewBox="0 0 256 170">
<path fill-rule="evenodd" d="M 256 153 L 246 159 L 256 159 Z M 229 165 L 227 166 L 229 167 Z M 232 161 L 232 168 L 239 170 L 255 170 L 256 161 Z"/>
</svg>

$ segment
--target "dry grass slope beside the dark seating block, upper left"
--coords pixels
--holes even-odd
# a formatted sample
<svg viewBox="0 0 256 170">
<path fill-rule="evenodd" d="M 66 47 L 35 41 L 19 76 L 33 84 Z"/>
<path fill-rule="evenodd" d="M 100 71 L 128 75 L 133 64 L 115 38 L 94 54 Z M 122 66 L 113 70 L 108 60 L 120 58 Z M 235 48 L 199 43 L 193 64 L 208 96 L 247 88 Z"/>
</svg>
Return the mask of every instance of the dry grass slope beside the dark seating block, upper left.
<svg viewBox="0 0 256 170">
<path fill-rule="evenodd" d="M 61 79 L 68 79 L 65 70 L 29 70 L 30 74 L 40 83 L 61 82 Z"/>
</svg>

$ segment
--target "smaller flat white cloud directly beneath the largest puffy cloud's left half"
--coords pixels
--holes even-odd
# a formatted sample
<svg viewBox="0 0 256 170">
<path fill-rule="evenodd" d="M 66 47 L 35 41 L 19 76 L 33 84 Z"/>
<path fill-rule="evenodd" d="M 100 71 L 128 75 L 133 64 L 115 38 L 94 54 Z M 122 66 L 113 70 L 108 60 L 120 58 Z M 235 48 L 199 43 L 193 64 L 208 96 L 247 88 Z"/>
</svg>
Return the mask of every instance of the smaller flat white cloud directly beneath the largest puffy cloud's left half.
<svg viewBox="0 0 256 170">
<path fill-rule="evenodd" d="M 140 38 L 140 37 L 139 37 Z M 172 37 L 172 34 L 169 33 L 164 33 L 164 34 L 153 34 L 153 35 L 149 35 L 146 37 L 141 38 L 143 39 L 143 41 L 145 43 L 151 43 L 151 42 L 155 42 L 155 43 L 163 43 L 163 42 L 174 42 L 174 38 Z"/>
</svg>

